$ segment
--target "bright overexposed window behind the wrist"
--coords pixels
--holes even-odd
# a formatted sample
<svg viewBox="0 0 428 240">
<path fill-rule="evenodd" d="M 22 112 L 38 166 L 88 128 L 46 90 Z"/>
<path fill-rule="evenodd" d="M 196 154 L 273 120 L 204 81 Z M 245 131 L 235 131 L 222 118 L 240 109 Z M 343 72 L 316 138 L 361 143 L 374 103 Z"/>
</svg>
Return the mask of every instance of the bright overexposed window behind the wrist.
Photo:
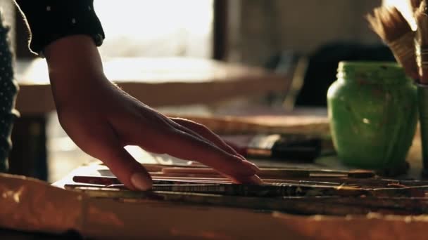
<svg viewBox="0 0 428 240">
<path fill-rule="evenodd" d="M 213 0 L 98 0 L 94 8 L 103 56 L 211 56 Z"/>
</svg>

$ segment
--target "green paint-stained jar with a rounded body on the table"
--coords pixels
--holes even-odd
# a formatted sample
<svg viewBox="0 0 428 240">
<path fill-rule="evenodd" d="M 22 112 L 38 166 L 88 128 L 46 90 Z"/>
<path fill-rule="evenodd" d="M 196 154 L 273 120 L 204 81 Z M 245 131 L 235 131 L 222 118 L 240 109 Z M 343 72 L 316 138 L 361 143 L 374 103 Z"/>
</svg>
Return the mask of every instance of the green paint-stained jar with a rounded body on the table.
<svg viewBox="0 0 428 240">
<path fill-rule="evenodd" d="M 412 145 L 417 95 L 412 81 L 392 62 L 340 62 L 327 93 L 334 147 L 358 168 L 400 168 Z"/>
</svg>

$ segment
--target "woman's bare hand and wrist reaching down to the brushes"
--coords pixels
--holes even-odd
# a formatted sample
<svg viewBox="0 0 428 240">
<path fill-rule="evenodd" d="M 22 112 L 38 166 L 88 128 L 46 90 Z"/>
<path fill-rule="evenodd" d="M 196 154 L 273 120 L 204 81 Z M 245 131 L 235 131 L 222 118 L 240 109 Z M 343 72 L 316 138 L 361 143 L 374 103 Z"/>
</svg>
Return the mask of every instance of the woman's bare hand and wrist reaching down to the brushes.
<svg viewBox="0 0 428 240">
<path fill-rule="evenodd" d="M 127 187 L 149 189 L 151 178 L 123 148 L 126 145 L 199 161 L 234 182 L 261 183 L 258 168 L 205 126 L 170 119 L 111 84 L 89 36 L 54 41 L 44 54 L 61 126 Z"/>
</svg>

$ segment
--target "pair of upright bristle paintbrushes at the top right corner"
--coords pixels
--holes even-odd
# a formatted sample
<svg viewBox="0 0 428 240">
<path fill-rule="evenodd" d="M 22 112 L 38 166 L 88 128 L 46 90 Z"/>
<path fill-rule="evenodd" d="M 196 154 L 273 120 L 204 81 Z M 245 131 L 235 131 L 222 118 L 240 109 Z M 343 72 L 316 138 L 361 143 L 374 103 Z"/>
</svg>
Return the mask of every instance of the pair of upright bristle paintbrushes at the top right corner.
<svg viewBox="0 0 428 240">
<path fill-rule="evenodd" d="M 389 46 L 406 74 L 428 84 L 428 4 L 427 0 L 409 0 L 416 31 L 395 7 L 374 8 L 367 20 L 374 32 Z"/>
</svg>

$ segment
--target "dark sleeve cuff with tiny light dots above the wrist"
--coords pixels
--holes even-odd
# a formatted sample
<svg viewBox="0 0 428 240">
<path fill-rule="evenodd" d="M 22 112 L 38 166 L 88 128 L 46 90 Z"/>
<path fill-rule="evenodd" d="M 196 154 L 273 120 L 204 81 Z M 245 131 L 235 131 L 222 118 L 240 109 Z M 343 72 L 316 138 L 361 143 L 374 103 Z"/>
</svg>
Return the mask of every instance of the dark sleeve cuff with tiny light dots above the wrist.
<svg viewBox="0 0 428 240">
<path fill-rule="evenodd" d="M 30 50 L 41 54 L 44 47 L 64 36 L 86 34 L 96 46 L 105 38 L 94 11 L 94 0 L 15 0 L 30 31 Z"/>
</svg>

